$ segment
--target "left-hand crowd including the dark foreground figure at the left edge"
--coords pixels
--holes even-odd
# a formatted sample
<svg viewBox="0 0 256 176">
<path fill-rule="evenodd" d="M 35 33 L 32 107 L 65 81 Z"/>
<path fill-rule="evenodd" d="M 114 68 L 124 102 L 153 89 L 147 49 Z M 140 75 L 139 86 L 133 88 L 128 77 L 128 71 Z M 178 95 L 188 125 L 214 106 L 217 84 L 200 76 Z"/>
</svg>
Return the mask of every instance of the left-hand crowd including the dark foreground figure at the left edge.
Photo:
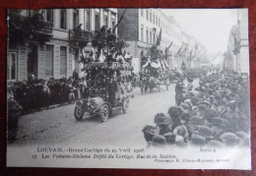
<svg viewBox="0 0 256 176">
<path fill-rule="evenodd" d="M 18 117 L 23 113 L 61 104 L 88 94 L 83 79 L 29 79 L 7 88 L 8 141 L 15 141 Z"/>
</svg>

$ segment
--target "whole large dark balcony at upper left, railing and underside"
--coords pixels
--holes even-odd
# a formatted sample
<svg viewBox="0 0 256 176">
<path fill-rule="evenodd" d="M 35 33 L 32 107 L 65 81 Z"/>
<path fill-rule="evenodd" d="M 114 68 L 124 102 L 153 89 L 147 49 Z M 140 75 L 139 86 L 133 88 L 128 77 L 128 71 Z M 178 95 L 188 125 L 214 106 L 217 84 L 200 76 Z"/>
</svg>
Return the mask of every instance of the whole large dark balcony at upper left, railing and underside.
<svg viewBox="0 0 256 176">
<path fill-rule="evenodd" d="M 45 42 L 52 37 L 52 27 L 52 23 L 44 22 L 43 18 L 37 14 L 25 17 L 17 13 L 9 13 L 9 37 L 11 40 L 13 38 L 19 42 L 26 40 Z"/>
</svg>

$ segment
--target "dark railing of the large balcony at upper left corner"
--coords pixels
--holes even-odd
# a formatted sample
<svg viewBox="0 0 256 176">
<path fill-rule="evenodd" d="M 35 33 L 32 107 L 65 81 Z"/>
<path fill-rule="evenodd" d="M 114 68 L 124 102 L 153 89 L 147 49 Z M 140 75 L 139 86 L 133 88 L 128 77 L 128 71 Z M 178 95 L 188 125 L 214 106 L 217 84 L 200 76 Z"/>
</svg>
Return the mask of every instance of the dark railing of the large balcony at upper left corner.
<svg viewBox="0 0 256 176">
<path fill-rule="evenodd" d="M 40 33 L 51 35 L 53 24 L 44 22 L 39 15 L 31 17 L 21 16 L 19 14 L 9 13 L 9 28 L 13 31 L 20 30 L 25 32 Z"/>
</svg>

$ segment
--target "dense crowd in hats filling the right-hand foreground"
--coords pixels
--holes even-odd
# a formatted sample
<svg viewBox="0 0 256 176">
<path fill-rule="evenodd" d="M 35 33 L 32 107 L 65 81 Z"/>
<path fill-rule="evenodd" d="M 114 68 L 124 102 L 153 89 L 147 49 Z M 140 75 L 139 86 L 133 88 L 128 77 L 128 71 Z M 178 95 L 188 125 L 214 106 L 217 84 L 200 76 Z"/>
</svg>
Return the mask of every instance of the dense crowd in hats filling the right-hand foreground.
<svg viewBox="0 0 256 176">
<path fill-rule="evenodd" d="M 184 89 L 186 89 L 184 87 Z M 152 147 L 249 147 L 249 80 L 233 72 L 203 76 L 180 105 L 158 113 L 144 137 Z"/>
</svg>

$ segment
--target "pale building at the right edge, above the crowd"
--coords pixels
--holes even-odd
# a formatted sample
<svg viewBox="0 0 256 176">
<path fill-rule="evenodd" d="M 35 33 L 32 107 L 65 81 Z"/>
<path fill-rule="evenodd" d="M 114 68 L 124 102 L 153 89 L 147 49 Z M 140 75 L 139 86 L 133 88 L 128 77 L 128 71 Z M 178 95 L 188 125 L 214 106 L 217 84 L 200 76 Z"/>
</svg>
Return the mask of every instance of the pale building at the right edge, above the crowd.
<svg viewBox="0 0 256 176">
<path fill-rule="evenodd" d="M 247 9 L 237 9 L 237 24 L 230 29 L 223 64 L 225 70 L 249 73 Z"/>
</svg>

